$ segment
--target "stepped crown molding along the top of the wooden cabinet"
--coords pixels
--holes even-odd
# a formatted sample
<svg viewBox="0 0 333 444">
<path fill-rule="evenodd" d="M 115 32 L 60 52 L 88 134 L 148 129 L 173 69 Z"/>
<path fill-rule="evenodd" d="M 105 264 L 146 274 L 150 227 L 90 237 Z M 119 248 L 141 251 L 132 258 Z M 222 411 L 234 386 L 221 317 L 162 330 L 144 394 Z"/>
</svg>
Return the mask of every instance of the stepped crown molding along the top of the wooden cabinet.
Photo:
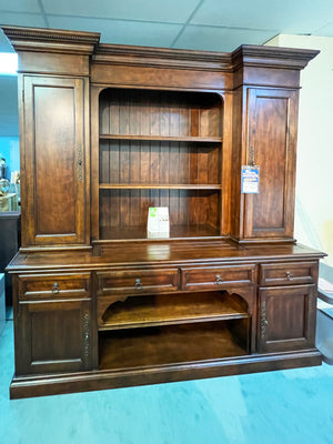
<svg viewBox="0 0 333 444">
<path fill-rule="evenodd" d="M 244 44 L 233 52 L 100 44 L 100 33 L 1 27 L 16 51 L 91 54 L 95 64 L 233 72 L 243 67 L 301 70 L 320 51 Z"/>
</svg>

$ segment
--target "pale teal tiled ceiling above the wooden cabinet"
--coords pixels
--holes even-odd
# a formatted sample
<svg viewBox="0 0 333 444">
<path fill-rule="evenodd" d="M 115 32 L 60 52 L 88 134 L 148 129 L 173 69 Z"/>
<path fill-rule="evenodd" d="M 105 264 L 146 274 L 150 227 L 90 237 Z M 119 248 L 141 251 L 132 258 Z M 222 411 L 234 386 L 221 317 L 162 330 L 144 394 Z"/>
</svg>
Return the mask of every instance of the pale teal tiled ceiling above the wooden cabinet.
<svg viewBox="0 0 333 444">
<path fill-rule="evenodd" d="M 279 33 L 333 37 L 333 0 L 0 0 L 0 24 L 100 32 L 105 43 L 232 51 Z M 1 32 L 0 51 L 13 51 Z M 12 79 L 0 77 L 0 135 L 18 133 L 12 94 Z"/>
</svg>

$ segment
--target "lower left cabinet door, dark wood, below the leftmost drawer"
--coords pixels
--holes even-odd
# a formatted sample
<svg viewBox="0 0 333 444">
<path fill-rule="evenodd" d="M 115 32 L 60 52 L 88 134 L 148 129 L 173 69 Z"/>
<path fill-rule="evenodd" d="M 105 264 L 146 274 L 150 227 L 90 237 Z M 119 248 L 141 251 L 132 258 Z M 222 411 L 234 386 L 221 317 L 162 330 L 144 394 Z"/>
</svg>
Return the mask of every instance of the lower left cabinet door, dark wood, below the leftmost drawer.
<svg viewBox="0 0 333 444">
<path fill-rule="evenodd" d="M 20 302 L 17 375 L 90 369 L 90 300 Z"/>
</svg>

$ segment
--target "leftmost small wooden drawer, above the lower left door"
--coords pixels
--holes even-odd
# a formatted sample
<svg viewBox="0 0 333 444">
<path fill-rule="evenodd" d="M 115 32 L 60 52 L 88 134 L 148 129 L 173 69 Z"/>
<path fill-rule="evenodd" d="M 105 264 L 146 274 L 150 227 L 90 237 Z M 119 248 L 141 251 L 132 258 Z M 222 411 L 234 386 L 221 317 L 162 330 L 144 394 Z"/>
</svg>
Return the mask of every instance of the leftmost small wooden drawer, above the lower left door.
<svg viewBox="0 0 333 444">
<path fill-rule="evenodd" d="M 90 297 L 90 273 L 19 275 L 19 297 Z"/>
</svg>

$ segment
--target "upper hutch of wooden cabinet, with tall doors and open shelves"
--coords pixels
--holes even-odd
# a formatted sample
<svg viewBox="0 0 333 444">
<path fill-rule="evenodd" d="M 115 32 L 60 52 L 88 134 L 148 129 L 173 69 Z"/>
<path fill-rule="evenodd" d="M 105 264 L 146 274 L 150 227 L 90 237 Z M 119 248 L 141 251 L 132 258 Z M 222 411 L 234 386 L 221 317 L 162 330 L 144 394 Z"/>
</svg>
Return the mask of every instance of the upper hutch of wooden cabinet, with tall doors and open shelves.
<svg viewBox="0 0 333 444">
<path fill-rule="evenodd" d="M 2 29 L 19 54 L 23 248 L 147 240 L 151 206 L 174 239 L 293 241 L 300 71 L 317 51 Z M 241 193 L 252 153 L 255 196 Z"/>
</svg>

